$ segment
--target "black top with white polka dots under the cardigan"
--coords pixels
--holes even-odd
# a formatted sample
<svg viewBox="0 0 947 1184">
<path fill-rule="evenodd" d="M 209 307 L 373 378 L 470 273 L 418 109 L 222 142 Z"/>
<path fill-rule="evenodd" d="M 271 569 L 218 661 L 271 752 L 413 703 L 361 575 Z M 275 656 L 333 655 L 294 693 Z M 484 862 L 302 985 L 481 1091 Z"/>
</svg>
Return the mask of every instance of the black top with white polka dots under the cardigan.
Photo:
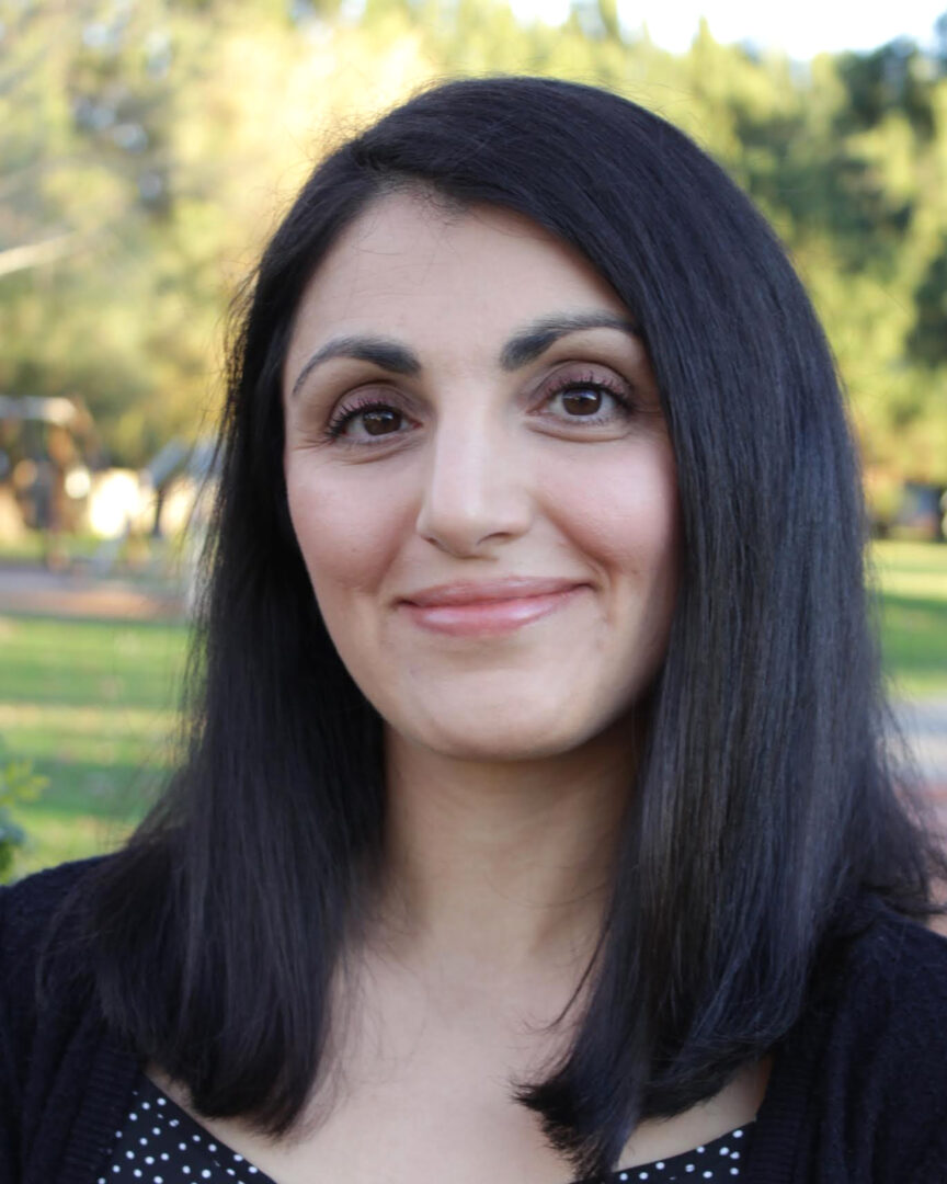
<svg viewBox="0 0 947 1184">
<path fill-rule="evenodd" d="M 613 1172 L 580 1184 L 703 1184 L 737 1179 L 753 1124 L 703 1147 Z M 115 1132 L 111 1154 L 97 1184 L 275 1184 L 243 1156 L 215 1139 L 144 1075 L 131 1108 Z"/>
</svg>

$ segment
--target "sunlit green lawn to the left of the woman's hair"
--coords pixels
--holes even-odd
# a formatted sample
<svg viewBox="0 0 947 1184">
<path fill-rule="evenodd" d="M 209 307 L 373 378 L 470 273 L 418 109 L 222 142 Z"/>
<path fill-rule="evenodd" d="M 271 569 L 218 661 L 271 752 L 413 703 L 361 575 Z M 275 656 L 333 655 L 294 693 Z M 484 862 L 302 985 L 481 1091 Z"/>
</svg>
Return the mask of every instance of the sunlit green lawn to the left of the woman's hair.
<svg viewBox="0 0 947 1184">
<path fill-rule="evenodd" d="M 172 765 L 182 624 L 0 617 L 0 735 L 49 778 L 15 874 L 108 850 Z"/>
</svg>

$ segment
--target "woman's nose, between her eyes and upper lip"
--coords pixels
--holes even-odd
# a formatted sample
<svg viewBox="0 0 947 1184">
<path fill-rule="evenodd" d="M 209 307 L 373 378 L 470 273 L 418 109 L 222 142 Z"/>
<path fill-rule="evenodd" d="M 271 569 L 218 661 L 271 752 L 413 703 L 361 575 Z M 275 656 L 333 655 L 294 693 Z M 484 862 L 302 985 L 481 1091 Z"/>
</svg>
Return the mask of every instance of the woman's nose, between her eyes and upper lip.
<svg viewBox="0 0 947 1184">
<path fill-rule="evenodd" d="M 509 427 L 458 416 L 438 425 L 427 459 L 417 519 L 421 538 L 468 558 L 529 529 L 529 469 Z"/>
</svg>

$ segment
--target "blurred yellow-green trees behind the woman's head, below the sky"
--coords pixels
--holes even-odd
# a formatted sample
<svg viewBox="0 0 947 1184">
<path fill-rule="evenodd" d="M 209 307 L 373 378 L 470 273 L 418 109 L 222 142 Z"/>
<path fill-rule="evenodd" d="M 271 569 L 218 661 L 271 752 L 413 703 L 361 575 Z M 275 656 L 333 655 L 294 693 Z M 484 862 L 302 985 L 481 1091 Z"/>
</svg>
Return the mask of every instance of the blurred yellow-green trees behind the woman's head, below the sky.
<svg viewBox="0 0 947 1184">
<path fill-rule="evenodd" d="M 80 393 L 144 463 L 217 405 L 227 302 L 315 157 L 430 79 L 549 73 L 721 160 L 813 292 L 872 483 L 947 483 L 939 27 L 800 64 L 707 24 L 670 54 L 614 0 L 561 27 L 504 0 L 0 0 L 0 392 Z"/>
</svg>

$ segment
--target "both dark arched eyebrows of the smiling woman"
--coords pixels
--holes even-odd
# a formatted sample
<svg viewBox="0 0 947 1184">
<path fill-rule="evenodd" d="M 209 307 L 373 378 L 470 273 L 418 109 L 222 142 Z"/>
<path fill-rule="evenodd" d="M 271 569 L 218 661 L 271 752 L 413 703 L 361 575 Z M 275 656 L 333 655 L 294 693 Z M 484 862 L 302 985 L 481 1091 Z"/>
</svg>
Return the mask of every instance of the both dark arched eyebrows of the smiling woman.
<svg viewBox="0 0 947 1184">
<path fill-rule="evenodd" d="M 504 371 L 520 369 L 556 342 L 560 337 L 569 333 L 579 333 L 582 329 L 619 329 L 630 336 L 639 336 L 638 327 L 627 317 L 616 316 L 613 313 L 565 313 L 552 314 L 540 317 L 515 333 L 500 352 L 500 365 Z M 392 374 L 418 374 L 421 363 L 418 355 L 389 337 L 372 336 L 369 334 L 355 334 L 344 337 L 333 337 L 324 346 L 317 349 L 299 371 L 296 381 L 292 384 L 290 398 L 294 398 L 299 387 L 323 362 L 333 358 L 352 358 L 356 361 L 372 362 Z"/>
</svg>

